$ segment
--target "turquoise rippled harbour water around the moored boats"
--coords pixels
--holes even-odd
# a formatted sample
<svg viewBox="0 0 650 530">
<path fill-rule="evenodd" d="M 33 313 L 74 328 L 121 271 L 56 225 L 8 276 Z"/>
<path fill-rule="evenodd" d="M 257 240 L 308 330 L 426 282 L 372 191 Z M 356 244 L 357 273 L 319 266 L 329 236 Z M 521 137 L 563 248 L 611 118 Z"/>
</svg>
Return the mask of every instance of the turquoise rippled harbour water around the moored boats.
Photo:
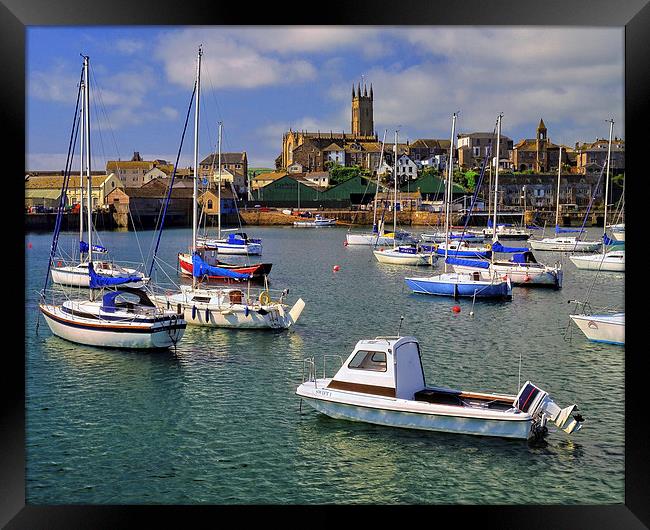
<svg viewBox="0 0 650 530">
<path fill-rule="evenodd" d="M 300 321 L 289 332 L 188 326 L 175 354 L 66 342 L 44 321 L 36 334 L 51 235 L 26 236 L 28 503 L 624 502 L 625 349 L 588 342 L 567 303 L 591 291 L 593 306 L 623 307 L 624 274 L 580 271 L 564 257 L 562 290 L 515 287 L 511 302 L 477 302 L 470 316 L 471 300 L 454 313 L 452 299 L 410 293 L 404 277 L 430 268 L 381 265 L 367 247 L 346 248 L 345 229 L 247 231 L 263 238 L 272 288 L 305 300 Z M 74 237 L 61 236 L 64 248 Z M 100 237 L 118 260 L 141 261 L 152 232 Z M 173 276 L 190 237 L 163 235 Z M 583 429 L 529 445 L 300 410 L 305 357 L 345 357 L 359 339 L 396 334 L 400 316 L 401 333 L 420 340 L 428 384 L 514 394 L 521 355 L 522 383 L 577 403 Z"/>
</svg>

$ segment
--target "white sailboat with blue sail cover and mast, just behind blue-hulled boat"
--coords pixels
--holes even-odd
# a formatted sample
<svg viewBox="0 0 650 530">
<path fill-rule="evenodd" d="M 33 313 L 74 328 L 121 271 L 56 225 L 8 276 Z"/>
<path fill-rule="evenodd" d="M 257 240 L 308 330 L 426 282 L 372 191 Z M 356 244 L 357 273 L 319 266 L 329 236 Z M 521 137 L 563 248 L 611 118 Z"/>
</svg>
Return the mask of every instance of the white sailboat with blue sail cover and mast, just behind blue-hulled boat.
<svg viewBox="0 0 650 530">
<path fill-rule="evenodd" d="M 500 114 L 497 118 L 497 153 L 501 143 L 501 119 Z M 495 169 L 494 181 L 494 211 L 492 226 L 499 226 L 497 224 L 497 197 L 499 187 L 499 164 L 497 157 L 497 164 Z M 562 287 L 562 265 L 556 264 L 555 266 L 544 265 L 538 263 L 532 252 L 528 251 L 526 247 L 522 248 L 509 248 L 503 247 L 499 243 L 499 231 L 492 231 L 492 254 L 490 260 L 467 260 L 467 259 L 451 259 L 450 262 L 454 271 L 456 272 L 481 272 L 487 271 L 492 277 L 502 278 L 508 276 L 513 285 L 548 285 L 559 289 Z M 497 252 L 512 252 L 513 258 L 498 259 L 495 257 Z"/>
</svg>

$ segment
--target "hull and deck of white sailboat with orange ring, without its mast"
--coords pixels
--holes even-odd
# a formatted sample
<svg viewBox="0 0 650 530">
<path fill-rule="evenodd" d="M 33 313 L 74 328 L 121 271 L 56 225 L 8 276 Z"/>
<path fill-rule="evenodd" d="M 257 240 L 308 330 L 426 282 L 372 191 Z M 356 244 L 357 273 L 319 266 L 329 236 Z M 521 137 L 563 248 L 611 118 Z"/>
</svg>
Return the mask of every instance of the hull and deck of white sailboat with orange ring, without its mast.
<svg viewBox="0 0 650 530">
<path fill-rule="evenodd" d="M 305 308 L 302 298 L 291 309 L 284 303 L 286 291 L 271 300 L 268 290 L 257 296 L 250 289 L 201 289 L 181 286 L 180 292 L 152 295 L 162 309 L 183 315 L 188 324 L 238 329 L 288 329 Z"/>
</svg>

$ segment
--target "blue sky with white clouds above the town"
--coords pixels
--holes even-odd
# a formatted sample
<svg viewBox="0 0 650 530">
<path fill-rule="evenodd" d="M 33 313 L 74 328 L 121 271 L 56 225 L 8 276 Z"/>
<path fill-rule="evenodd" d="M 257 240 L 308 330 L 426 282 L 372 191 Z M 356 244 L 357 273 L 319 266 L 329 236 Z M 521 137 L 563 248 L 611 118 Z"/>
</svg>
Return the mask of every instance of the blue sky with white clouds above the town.
<svg viewBox="0 0 650 530">
<path fill-rule="evenodd" d="M 27 29 L 28 170 L 65 165 L 80 54 L 90 56 L 93 169 L 107 160 L 176 157 L 203 45 L 199 156 L 246 151 L 273 167 L 282 134 L 350 131 L 352 84 L 374 89 L 375 128 L 400 141 L 491 131 L 551 141 L 624 137 L 623 28 L 156 27 Z M 192 123 L 192 122 L 190 122 Z M 192 163 L 192 127 L 181 166 Z"/>
</svg>

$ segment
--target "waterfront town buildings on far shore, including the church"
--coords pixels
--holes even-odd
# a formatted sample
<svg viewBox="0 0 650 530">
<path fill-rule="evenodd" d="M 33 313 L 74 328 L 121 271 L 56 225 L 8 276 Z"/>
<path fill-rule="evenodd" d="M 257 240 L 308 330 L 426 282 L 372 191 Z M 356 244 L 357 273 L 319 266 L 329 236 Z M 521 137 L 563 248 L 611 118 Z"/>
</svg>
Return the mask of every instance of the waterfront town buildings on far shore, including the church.
<svg viewBox="0 0 650 530">
<path fill-rule="evenodd" d="M 418 138 L 391 142 L 380 138 L 373 119 L 373 86 L 352 87 L 350 132 L 287 131 L 281 138 L 281 152 L 275 168 L 249 168 L 248 155 L 241 152 L 209 153 L 198 167 L 199 203 L 206 215 L 237 216 L 242 208 L 347 209 L 370 207 L 379 182 L 388 208 L 393 201 L 393 175 L 397 174 L 400 210 L 439 210 L 448 165 L 448 138 Z M 604 186 L 598 186 L 607 158 L 608 139 L 579 140 L 561 145 L 551 140 L 540 118 L 531 124 L 531 137 L 515 142 L 502 135 L 498 157 L 496 132 L 471 131 L 456 135 L 454 146 L 454 188 L 456 209 L 467 207 L 485 160 L 487 178 L 479 190 L 476 209 L 489 209 L 491 174 L 499 164 L 498 207 L 502 210 L 552 209 L 556 203 L 560 169 L 560 203 L 584 208 L 594 197 L 602 204 Z M 612 141 L 610 175 L 612 200 L 622 193 L 625 173 L 625 142 Z M 561 154 L 560 154 L 561 153 Z M 561 157 L 561 160 L 560 160 Z M 394 169 L 394 167 L 396 168 Z M 52 212 L 63 189 L 63 171 L 32 171 L 25 175 L 27 213 Z M 192 167 L 176 168 L 167 160 L 143 160 L 134 152 L 130 160 L 109 160 L 104 170 L 93 171 L 92 201 L 97 210 L 110 212 L 117 226 L 129 226 L 128 212 L 140 226 L 152 226 L 161 201 L 174 176 L 168 216 L 172 224 L 187 224 L 192 208 Z M 79 203 L 80 177 L 71 175 L 65 204 Z M 221 182 L 221 193 L 218 183 Z M 221 204 L 219 205 L 219 195 Z M 134 221 L 136 222 L 136 221 Z"/>
</svg>

